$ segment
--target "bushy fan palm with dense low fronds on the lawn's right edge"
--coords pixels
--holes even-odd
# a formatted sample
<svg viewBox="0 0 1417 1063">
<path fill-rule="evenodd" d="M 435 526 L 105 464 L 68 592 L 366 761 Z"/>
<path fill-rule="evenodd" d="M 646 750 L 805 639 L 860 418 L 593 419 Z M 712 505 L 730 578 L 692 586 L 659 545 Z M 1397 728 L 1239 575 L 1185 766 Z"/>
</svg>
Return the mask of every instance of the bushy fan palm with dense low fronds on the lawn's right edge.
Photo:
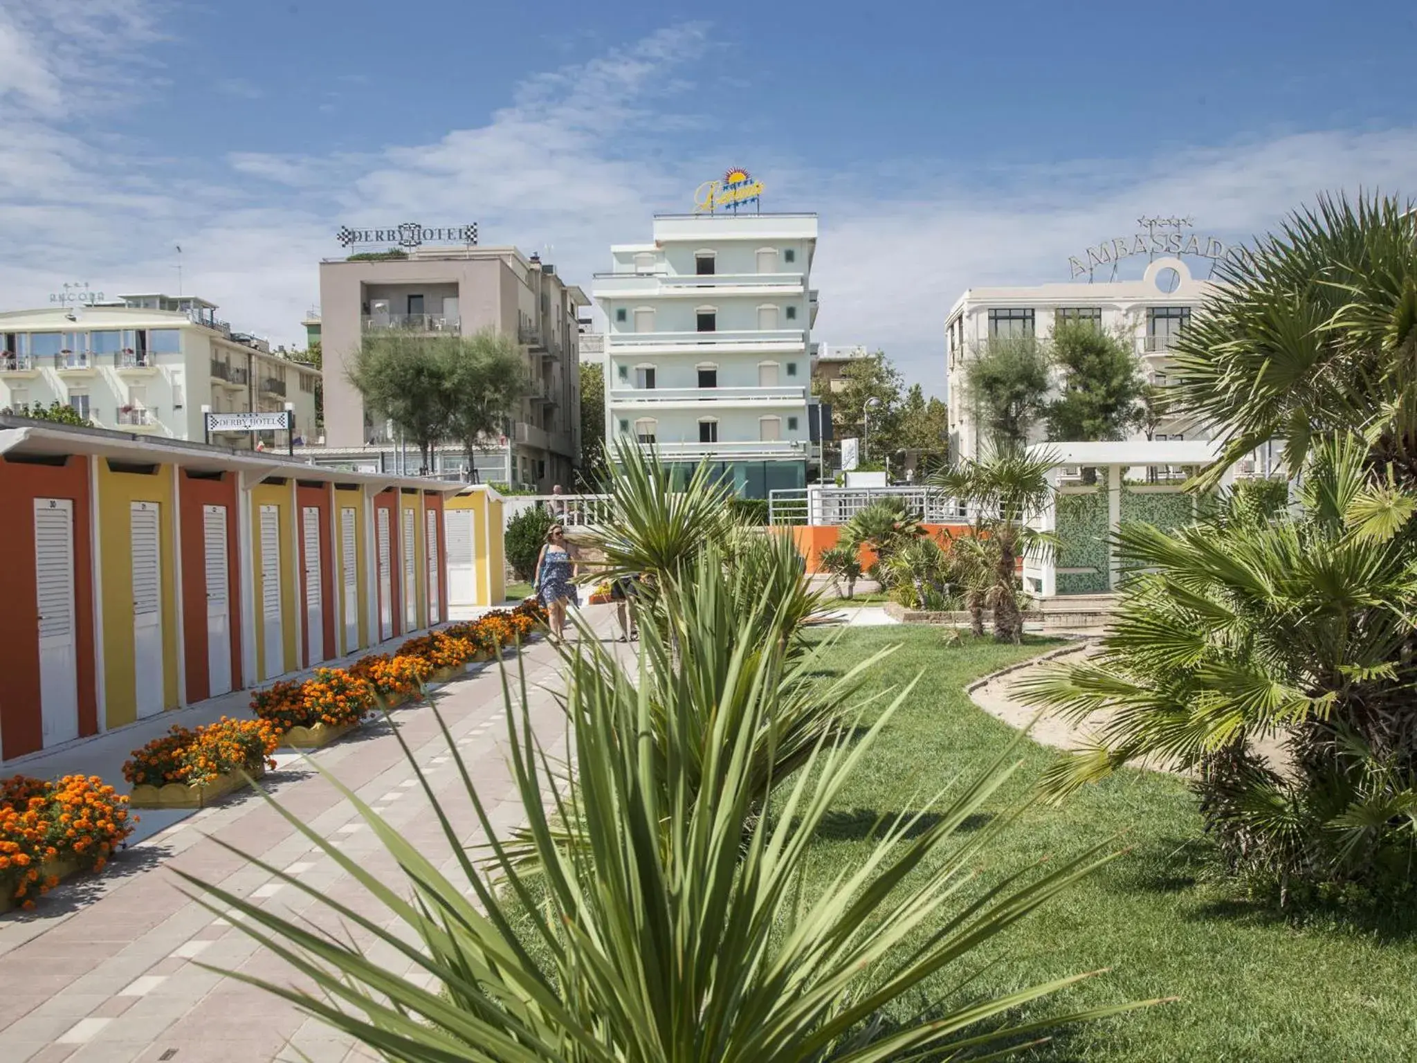
<svg viewBox="0 0 1417 1063">
<path fill-rule="evenodd" d="M 1053 794 L 1170 764 L 1196 774 L 1230 866 L 1281 893 L 1294 879 L 1410 879 L 1417 492 L 1396 472 L 1374 483 L 1369 463 L 1366 441 L 1325 441 L 1309 448 L 1298 513 L 1241 497 L 1175 534 L 1122 527 L 1136 571 L 1101 652 L 1019 685 L 1095 727 L 1050 774 Z M 1277 740 L 1287 771 L 1261 757 Z"/>
</svg>

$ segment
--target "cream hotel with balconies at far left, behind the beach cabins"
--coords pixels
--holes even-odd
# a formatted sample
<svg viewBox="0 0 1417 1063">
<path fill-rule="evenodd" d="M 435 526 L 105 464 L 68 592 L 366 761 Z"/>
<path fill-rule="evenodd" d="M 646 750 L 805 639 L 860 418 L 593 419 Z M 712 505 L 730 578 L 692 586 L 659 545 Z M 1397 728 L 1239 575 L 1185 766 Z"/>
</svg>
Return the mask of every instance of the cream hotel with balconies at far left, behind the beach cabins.
<svg viewBox="0 0 1417 1063">
<path fill-rule="evenodd" d="M 234 332 L 196 296 L 0 313 L 0 408 L 74 407 L 101 428 L 203 439 L 211 412 L 295 412 L 296 442 L 316 431 L 320 370 Z M 228 446 L 286 446 L 285 432 L 222 435 Z"/>
</svg>

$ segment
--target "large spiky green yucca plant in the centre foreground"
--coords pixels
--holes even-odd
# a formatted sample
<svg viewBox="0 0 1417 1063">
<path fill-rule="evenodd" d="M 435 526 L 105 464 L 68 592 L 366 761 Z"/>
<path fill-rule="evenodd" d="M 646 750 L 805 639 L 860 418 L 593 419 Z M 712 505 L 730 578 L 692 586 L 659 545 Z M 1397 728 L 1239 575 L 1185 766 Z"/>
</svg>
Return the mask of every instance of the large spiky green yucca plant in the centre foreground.
<svg viewBox="0 0 1417 1063">
<path fill-rule="evenodd" d="M 720 635 L 711 625 L 686 624 L 686 659 L 726 652 Z M 703 645 L 710 636 L 716 645 Z M 230 977 L 299 1005 L 385 1059 L 417 1063 L 884 1063 L 1029 1043 L 1058 1023 L 1131 1006 L 1009 1025 L 1010 1011 L 1078 978 L 998 996 L 972 988 L 982 945 L 1108 859 L 1090 849 L 989 889 L 968 889 L 1012 816 L 982 831 L 959 828 L 1015 770 L 1003 760 L 951 780 L 920 814 L 886 828 L 860 866 L 843 867 L 819 892 L 805 890 L 823 816 L 910 686 L 859 740 L 837 733 L 816 743 L 778 792 L 777 815 L 754 816 L 774 781 L 757 777 L 752 751 L 781 713 L 781 682 L 747 624 L 727 652 L 731 668 L 714 669 L 711 683 L 696 682 L 691 669 L 679 673 L 670 755 L 660 755 L 650 737 L 656 679 L 648 662 L 635 676 L 611 673 L 609 682 L 591 660 L 572 668 L 565 697 L 578 726 L 575 777 L 554 811 L 543 808 L 541 791 L 553 780 L 529 714 L 507 690 L 510 764 L 540 859 L 534 882 L 500 845 L 490 872 L 475 863 L 452 825 L 453 811 L 412 758 L 456 855 L 452 877 L 439 870 L 442 853 L 415 849 L 333 778 L 397 859 L 402 883 L 370 873 L 281 809 L 368 890 L 380 911 L 252 863 L 306 894 L 316 911 L 411 962 L 431 977 L 431 988 L 381 967 L 373 950 L 346 934 L 283 918 L 183 873 L 213 911 L 241 913 L 239 930 L 289 961 L 317 992 Z M 734 710 L 714 712 L 704 699 Z M 711 721 L 703 763 L 677 755 L 696 741 L 677 720 Z M 492 836 L 486 805 L 448 737 L 466 799 Z M 716 785 L 701 785 L 701 777 Z M 587 845 L 563 846 L 553 816 L 581 823 Z M 989 962 L 1000 962 L 996 952 Z M 881 1022 L 883 1009 L 907 996 L 908 1018 Z"/>
</svg>

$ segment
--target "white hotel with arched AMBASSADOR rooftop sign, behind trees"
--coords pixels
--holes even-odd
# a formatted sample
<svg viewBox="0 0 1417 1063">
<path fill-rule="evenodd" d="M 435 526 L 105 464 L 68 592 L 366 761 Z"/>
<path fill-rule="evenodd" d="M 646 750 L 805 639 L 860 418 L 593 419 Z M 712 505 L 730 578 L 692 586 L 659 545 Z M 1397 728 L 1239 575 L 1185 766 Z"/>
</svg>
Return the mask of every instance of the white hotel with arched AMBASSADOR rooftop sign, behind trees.
<svg viewBox="0 0 1417 1063">
<path fill-rule="evenodd" d="M 1044 283 L 1032 288 L 971 288 L 949 310 L 945 351 L 949 373 L 949 454 L 976 458 L 988 445 L 971 408 L 966 371 L 972 359 L 1000 336 L 1046 339 L 1057 322 L 1095 322 L 1107 332 L 1125 337 L 1152 384 L 1165 384 L 1170 347 L 1202 312 L 1214 283 L 1192 276 L 1185 261 L 1175 257 L 1153 259 L 1141 279 Z M 1029 442 L 1044 438 L 1037 424 Z M 1146 439 L 1138 429 L 1132 439 Z M 1153 439 L 1204 439 L 1202 429 L 1186 417 L 1168 417 L 1151 432 Z M 1265 451 L 1268 454 L 1268 451 Z M 1257 455 L 1264 462 L 1265 455 Z M 1268 469 L 1251 469 L 1267 475 Z"/>
</svg>

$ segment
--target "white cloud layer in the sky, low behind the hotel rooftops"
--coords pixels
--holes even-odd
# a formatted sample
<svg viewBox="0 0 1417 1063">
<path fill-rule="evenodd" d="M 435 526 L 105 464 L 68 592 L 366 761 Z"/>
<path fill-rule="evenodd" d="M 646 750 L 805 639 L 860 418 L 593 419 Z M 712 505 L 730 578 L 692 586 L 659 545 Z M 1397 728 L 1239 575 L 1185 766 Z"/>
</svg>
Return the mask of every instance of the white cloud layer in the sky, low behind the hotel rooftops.
<svg viewBox="0 0 1417 1063">
<path fill-rule="evenodd" d="M 139 0 L 94 3 L 109 31 L 103 48 L 140 55 L 154 40 Z M 1321 190 L 1397 190 L 1417 171 L 1417 128 L 1400 128 L 989 173 L 920 157 L 840 173 L 703 125 L 691 89 L 696 77 L 718 78 L 703 71 L 720 45 L 704 27 L 682 26 L 533 75 L 485 125 L 429 143 L 251 150 L 225 159 L 224 179 L 198 179 L 208 160 L 154 159 L 69 120 L 81 102 L 102 102 L 102 89 L 72 75 L 91 65 L 61 61 L 67 31 L 57 16 L 0 16 L 0 231 L 11 248 L 35 248 L 0 262 L 0 289 L 37 305 L 71 279 L 108 292 L 167 288 L 181 244 L 186 291 L 278 342 L 300 334 L 319 298 L 316 264 L 336 254 L 340 224 L 479 221 L 483 242 L 541 251 L 589 286 L 609 244 L 648 237 L 655 210 L 686 207 L 694 186 L 731 162 L 767 181 L 769 207 L 820 214 L 818 339 L 881 346 L 938 394 L 944 317 L 968 286 L 1067 279 L 1068 255 L 1129 231 L 1138 214 L 1195 214 L 1199 227 L 1243 238 Z M 26 57 L 28 72 L 7 57 Z M 686 156 L 689 122 L 700 147 Z"/>
</svg>

